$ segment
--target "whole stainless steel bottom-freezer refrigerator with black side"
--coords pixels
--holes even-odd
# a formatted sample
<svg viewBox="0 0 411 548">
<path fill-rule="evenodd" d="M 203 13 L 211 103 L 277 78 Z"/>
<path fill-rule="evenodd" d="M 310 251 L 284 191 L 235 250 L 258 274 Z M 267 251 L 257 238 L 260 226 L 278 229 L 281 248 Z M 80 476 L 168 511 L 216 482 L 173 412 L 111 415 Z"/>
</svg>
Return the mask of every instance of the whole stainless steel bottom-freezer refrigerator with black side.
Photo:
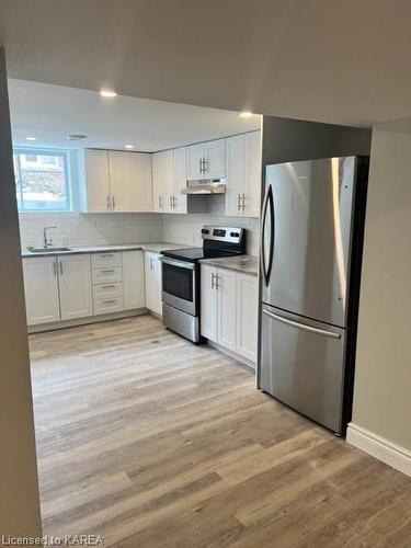
<svg viewBox="0 0 411 548">
<path fill-rule="evenodd" d="M 350 420 L 368 159 L 269 165 L 258 386 L 343 434 Z"/>
</svg>

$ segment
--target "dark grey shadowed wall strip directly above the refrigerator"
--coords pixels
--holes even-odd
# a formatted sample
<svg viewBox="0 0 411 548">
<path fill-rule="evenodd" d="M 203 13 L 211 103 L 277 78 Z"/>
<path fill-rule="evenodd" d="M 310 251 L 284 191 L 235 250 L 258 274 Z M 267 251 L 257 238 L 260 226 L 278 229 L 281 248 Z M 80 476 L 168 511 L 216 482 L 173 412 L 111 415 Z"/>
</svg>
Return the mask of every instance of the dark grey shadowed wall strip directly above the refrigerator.
<svg viewBox="0 0 411 548">
<path fill-rule="evenodd" d="M 312 158 L 369 155 L 372 132 L 263 116 L 263 167 Z"/>
</svg>

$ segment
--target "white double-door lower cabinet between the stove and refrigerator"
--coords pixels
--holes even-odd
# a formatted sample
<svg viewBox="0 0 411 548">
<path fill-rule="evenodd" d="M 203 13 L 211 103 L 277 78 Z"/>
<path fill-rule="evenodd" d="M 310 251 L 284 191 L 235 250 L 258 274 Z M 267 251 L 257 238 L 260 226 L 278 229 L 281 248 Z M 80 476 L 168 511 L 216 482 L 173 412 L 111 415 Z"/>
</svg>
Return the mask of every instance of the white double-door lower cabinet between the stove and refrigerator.
<svg viewBox="0 0 411 548">
<path fill-rule="evenodd" d="M 202 264 L 201 333 L 206 339 L 256 361 L 258 278 Z"/>
</svg>

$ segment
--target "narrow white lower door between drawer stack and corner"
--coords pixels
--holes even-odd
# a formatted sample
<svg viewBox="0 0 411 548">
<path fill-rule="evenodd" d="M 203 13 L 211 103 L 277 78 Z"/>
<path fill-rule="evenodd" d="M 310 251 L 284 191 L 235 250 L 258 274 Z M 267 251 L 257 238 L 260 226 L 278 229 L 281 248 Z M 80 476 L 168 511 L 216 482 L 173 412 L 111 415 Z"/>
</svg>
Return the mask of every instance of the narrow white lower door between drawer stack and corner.
<svg viewBox="0 0 411 548">
<path fill-rule="evenodd" d="M 142 251 L 123 253 L 123 298 L 124 310 L 146 306 L 145 263 Z"/>
</svg>

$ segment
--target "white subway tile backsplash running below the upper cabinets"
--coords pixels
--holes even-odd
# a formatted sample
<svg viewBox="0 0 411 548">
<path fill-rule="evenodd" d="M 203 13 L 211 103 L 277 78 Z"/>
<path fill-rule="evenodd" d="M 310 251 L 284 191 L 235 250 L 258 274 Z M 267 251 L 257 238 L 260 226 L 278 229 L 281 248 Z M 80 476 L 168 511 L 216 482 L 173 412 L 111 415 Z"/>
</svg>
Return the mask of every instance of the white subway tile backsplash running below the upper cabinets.
<svg viewBox="0 0 411 548">
<path fill-rule="evenodd" d="M 193 201 L 194 202 L 194 201 Z M 204 207 L 204 204 L 206 206 Z M 43 228 L 49 231 L 55 246 L 104 246 L 110 243 L 138 243 L 167 241 L 202 246 L 204 225 L 232 226 L 247 229 L 247 252 L 258 254 L 259 219 L 226 217 L 224 196 L 202 197 L 202 213 L 174 214 L 22 214 L 20 232 L 22 248 L 43 246 Z"/>
</svg>

